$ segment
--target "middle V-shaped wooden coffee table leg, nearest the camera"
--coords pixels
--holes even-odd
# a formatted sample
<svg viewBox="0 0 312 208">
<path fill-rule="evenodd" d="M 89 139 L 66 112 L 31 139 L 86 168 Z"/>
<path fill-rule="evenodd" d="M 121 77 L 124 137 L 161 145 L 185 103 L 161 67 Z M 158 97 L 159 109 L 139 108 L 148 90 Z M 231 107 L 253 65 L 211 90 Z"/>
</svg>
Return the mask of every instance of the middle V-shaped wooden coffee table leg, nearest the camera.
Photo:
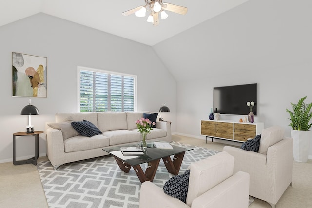
<svg viewBox="0 0 312 208">
<path fill-rule="evenodd" d="M 137 173 L 137 177 L 140 179 L 141 183 L 143 183 L 144 181 L 152 182 L 154 180 L 159 162 L 160 162 L 160 159 L 149 162 L 145 170 L 145 173 L 143 172 L 140 165 L 133 166 L 133 169 Z"/>
</svg>

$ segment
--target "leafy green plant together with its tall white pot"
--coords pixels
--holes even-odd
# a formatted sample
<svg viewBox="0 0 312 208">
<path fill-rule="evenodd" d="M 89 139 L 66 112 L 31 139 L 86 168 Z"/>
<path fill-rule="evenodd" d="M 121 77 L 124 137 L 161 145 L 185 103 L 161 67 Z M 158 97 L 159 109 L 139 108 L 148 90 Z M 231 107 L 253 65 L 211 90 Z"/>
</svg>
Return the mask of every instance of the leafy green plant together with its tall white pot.
<svg viewBox="0 0 312 208">
<path fill-rule="evenodd" d="M 297 162 L 307 162 L 310 149 L 311 128 L 309 124 L 312 117 L 310 112 L 312 103 L 305 104 L 304 100 L 307 96 L 299 99 L 297 104 L 292 105 L 292 111 L 286 109 L 289 113 L 292 127 L 291 136 L 293 138 L 293 159 Z"/>
</svg>

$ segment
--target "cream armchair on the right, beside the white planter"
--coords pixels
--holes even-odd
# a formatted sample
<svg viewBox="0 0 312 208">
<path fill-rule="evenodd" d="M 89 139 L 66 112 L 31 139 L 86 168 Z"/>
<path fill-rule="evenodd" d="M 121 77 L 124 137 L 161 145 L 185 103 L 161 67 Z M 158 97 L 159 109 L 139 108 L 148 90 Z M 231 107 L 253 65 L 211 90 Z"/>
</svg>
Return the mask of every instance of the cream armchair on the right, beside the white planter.
<svg viewBox="0 0 312 208">
<path fill-rule="evenodd" d="M 283 138 L 284 130 L 274 126 L 261 134 L 259 152 L 225 146 L 234 156 L 234 173 L 250 174 L 249 195 L 268 202 L 272 208 L 292 183 L 292 138 Z"/>
</svg>

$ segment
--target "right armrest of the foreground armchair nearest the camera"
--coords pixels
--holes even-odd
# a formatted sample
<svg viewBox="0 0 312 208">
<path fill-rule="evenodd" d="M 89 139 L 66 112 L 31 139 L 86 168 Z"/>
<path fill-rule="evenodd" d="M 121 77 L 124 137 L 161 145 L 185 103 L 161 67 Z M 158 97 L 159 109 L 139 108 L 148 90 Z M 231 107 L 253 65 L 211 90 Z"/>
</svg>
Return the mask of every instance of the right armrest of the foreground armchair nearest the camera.
<svg viewBox="0 0 312 208">
<path fill-rule="evenodd" d="M 192 202 L 192 208 L 248 208 L 249 174 L 239 171 Z"/>
</svg>

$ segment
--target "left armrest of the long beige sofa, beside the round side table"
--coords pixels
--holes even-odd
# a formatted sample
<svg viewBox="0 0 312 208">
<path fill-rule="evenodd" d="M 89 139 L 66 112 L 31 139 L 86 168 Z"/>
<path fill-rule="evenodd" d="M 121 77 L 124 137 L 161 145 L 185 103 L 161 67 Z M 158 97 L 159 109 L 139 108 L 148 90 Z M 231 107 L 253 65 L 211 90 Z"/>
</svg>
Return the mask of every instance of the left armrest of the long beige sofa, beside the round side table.
<svg viewBox="0 0 312 208">
<path fill-rule="evenodd" d="M 64 158 L 63 134 L 58 129 L 46 129 L 47 155 L 53 166 L 62 165 Z"/>
</svg>

